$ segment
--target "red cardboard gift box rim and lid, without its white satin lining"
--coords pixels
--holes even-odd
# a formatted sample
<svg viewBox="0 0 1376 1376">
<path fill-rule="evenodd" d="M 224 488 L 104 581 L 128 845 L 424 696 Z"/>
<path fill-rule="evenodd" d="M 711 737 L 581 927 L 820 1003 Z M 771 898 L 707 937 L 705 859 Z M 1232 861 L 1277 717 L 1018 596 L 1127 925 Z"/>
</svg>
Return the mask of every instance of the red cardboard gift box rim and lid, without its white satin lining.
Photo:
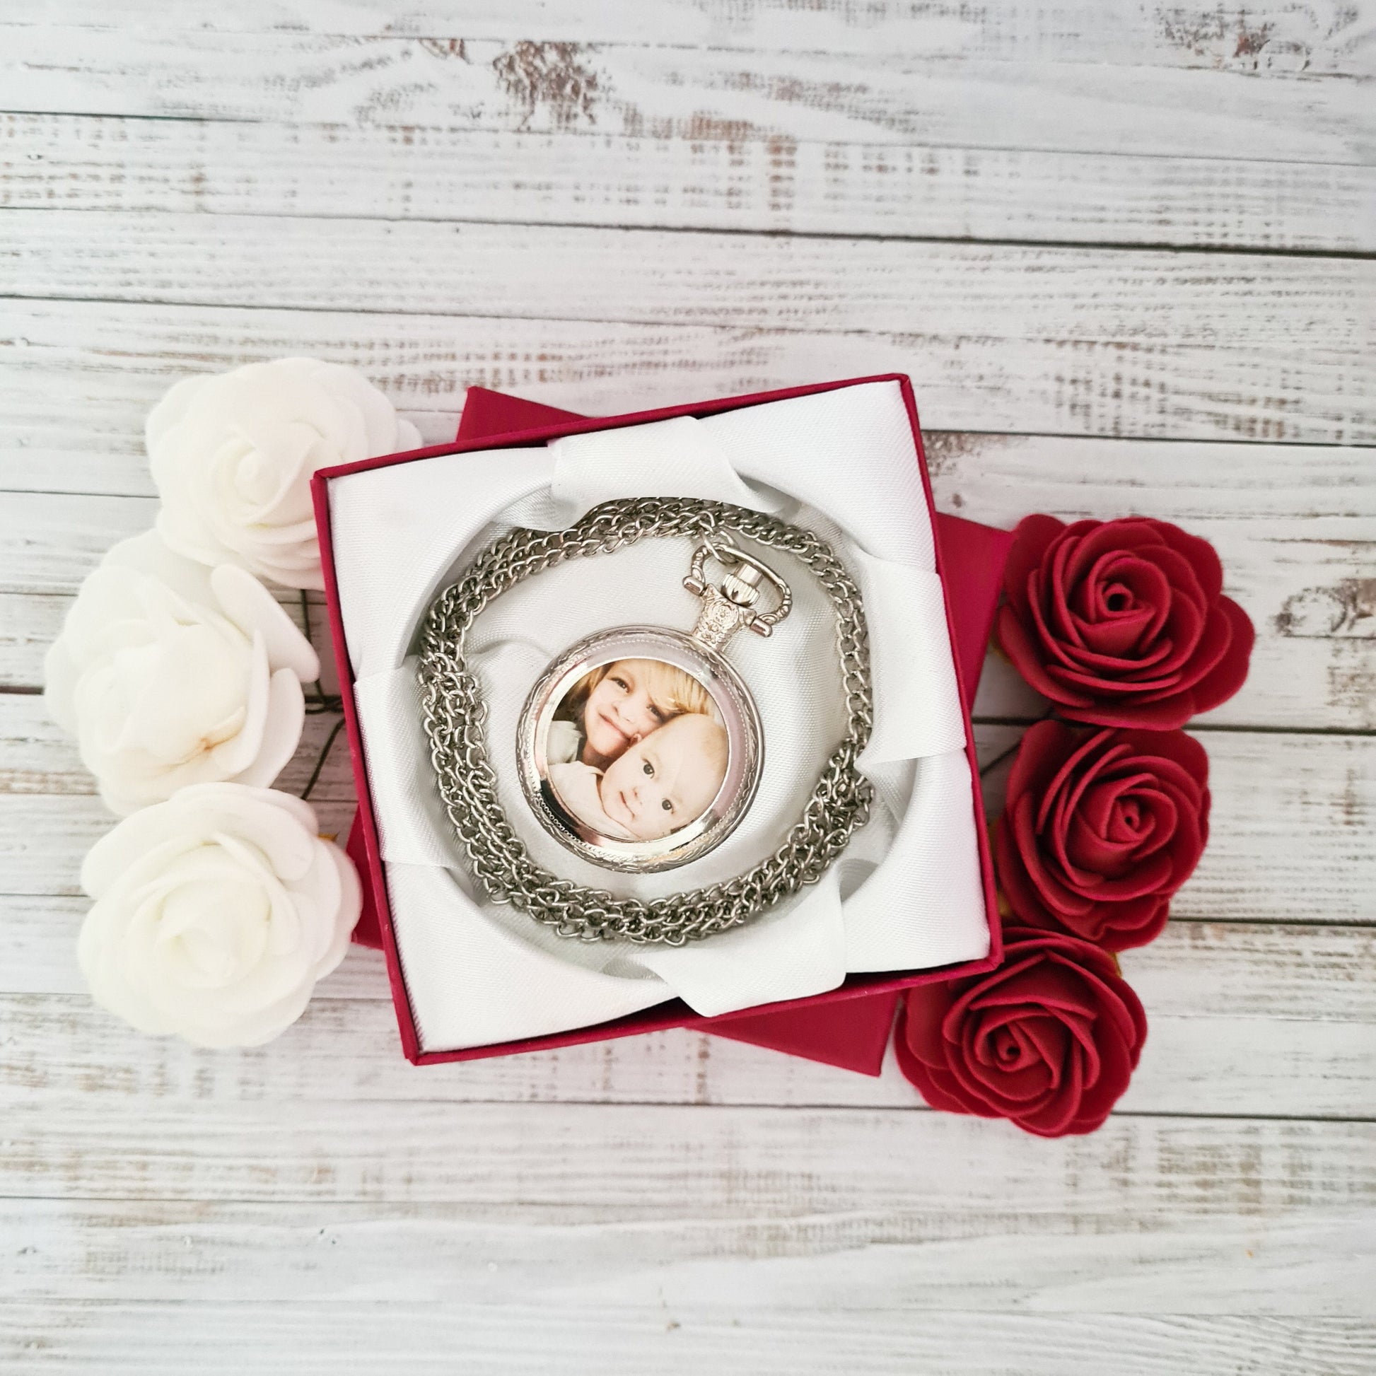
<svg viewBox="0 0 1376 1376">
<path fill-rule="evenodd" d="M 985 912 L 991 936 L 988 956 L 981 960 L 929 970 L 850 974 L 838 988 L 824 993 L 765 1004 L 761 1009 L 750 1009 L 743 1013 L 731 1013 L 721 1017 L 702 1017 L 688 1009 L 681 1000 L 673 999 L 629 1014 L 627 1017 L 592 1026 L 575 1028 L 568 1032 L 523 1038 L 490 1046 L 466 1047 L 457 1051 L 422 1051 L 392 933 L 391 911 L 387 900 L 387 881 L 378 854 L 377 827 L 363 764 L 362 736 L 354 702 L 354 678 L 344 640 L 338 588 L 334 577 L 329 517 L 329 482 L 343 477 L 347 473 L 391 464 L 413 462 L 439 454 L 538 446 L 563 435 L 647 424 L 677 416 L 709 416 L 742 406 L 784 400 L 793 396 L 806 396 L 868 383 L 900 384 L 912 425 L 914 442 L 922 464 L 923 490 L 933 516 L 936 567 L 945 593 L 947 626 L 955 648 L 956 680 L 960 687 L 966 714 L 966 754 L 973 782 L 976 834 L 980 846 Z M 813 387 L 787 388 L 776 392 L 762 392 L 750 396 L 727 398 L 722 400 L 596 420 L 578 417 L 570 411 L 559 411 L 553 407 L 538 406 L 533 402 L 506 398 L 484 388 L 472 388 L 465 403 L 455 443 L 436 444 L 406 454 L 367 458 L 355 464 L 322 469 L 314 476 L 311 490 L 319 531 L 330 633 L 338 669 L 340 692 L 344 699 L 350 754 L 359 797 L 358 817 L 355 819 L 348 842 L 348 852 L 358 863 L 365 879 L 365 914 L 361 919 L 358 936 L 363 944 L 380 944 L 385 952 L 392 998 L 400 1025 L 402 1044 L 410 1061 L 418 1065 L 442 1061 L 465 1061 L 488 1055 L 509 1055 L 519 1051 L 572 1046 L 582 1042 L 655 1032 L 663 1028 L 691 1026 L 718 1036 L 753 1042 L 810 1060 L 841 1065 L 846 1069 L 878 1075 L 889 1029 L 893 1024 L 894 1007 L 901 991 L 918 984 L 978 973 L 998 965 L 1002 952 L 995 905 L 993 870 L 982 819 L 980 775 L 974 754 L 974 740 L 970 733 L 969 705 L 974 695 L 974 685 L 978 682 L 1003 561 L 1007 556 L 1011 537 L 1004 531 L 991 530 L 987 526 L 978 526 L 955 516 L 940 515 L 932 508 L 932 487 L 927 480 L 922 433 L 918 425 L 912 387 L 905 376 L 885 374 L 879 377 L 849 378 Z"/>
</svg>

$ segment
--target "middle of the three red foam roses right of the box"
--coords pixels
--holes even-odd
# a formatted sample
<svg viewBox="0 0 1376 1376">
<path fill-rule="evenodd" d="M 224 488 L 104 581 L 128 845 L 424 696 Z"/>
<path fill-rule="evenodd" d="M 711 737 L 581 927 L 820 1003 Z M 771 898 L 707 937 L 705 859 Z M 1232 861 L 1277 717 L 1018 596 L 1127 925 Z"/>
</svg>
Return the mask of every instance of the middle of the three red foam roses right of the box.
<svg viewBox="0 0 1376 1376">
<path fill-rule="evenodd" d="M 1208 841 L 1208 755 L 1181 731 L 1039 721 L 1009 775 L 999 882 L 1028 926 L 1145 945 Z"/>
</svg>

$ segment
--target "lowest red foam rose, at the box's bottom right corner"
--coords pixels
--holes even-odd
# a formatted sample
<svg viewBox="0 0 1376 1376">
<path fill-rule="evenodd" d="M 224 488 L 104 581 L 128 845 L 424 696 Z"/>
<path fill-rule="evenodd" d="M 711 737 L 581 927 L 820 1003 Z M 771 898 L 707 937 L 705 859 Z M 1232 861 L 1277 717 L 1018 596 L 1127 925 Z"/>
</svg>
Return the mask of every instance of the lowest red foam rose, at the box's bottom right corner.
<svg viewBox="0 0 1376 1376">
<path fill-rule="evenodd" d="M 908 993 L 896 1044 L 900 1069 L 934 1109 L 1065 1137 L 1104 1123 L 1145 1040 L 1146 1014 L 1110 955 L 1010 927 L 998 970 Z"/>
</svg>

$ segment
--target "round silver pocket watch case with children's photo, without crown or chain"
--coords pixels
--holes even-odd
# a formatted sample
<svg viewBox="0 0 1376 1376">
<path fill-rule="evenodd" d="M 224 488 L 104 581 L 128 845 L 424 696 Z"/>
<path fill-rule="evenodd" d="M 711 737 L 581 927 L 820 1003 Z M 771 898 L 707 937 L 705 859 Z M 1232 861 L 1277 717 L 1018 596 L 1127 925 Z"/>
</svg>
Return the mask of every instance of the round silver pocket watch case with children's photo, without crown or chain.
<svg viewBox="0 0 1376 1376">
<path fill-rule="evenodd" d="M 541 826 L 593 864 L 670 870 L 720 845 L 760 783 L 754 702 L 714 649 L 622 626 L 578 641 L 522 710 L 516 760 Z"/>
</svg>

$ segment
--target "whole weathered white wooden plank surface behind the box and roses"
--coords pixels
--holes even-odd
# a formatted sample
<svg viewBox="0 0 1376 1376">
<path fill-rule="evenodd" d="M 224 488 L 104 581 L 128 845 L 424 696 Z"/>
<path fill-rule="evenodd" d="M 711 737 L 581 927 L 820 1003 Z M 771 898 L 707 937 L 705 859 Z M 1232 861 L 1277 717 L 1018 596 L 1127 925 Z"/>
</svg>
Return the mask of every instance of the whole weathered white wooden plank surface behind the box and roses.
<svg viewBox="0 0 1376 1376">
<path fill-rule="evenodd" d="M 0 1365 L 1370 1370 L 1373 73 L 1370 0 L 7 11 Z M 374 952 L 252 1051 L 92 1007 L 111 821 L 41 656 L 151 519 L 147 407 L 292 352 L 429 442 L 473 383 L 908 370 L 943 509 L 1212 539 L 1254 676 L 1198 724 L 1212 841 L 1123 956 L 1150 1033 L 1104 1131 L 685 1032 L 417 1071 Z M 1040 710 L 991 659 L 981 755 Z M 312 798 L 348 824 L 343 743 Z"/>
</svg>

